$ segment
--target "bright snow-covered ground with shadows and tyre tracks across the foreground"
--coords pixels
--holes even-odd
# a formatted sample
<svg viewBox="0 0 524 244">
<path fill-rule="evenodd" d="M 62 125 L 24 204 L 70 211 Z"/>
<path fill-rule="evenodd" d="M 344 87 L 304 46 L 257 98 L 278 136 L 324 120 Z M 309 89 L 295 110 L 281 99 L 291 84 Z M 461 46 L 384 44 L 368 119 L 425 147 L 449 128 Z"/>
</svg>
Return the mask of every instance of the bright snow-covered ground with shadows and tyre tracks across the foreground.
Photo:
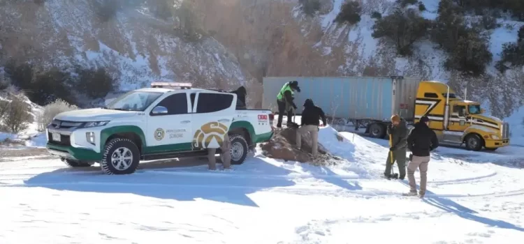
<svg viewBox="0 0 524 244">
<path fill-rule="evenodd" d="M 407 181 L 380 178 L 386 140 L 341 134 L 320 130 L 347 160 L 333 167 L 260 148 L 234 171 L 182 159 L 126 176 L 1 158 L 0 243 L 521 243 L 524 148 L 437 148 L 421 200 L 400 195 Z"/>
</svg>

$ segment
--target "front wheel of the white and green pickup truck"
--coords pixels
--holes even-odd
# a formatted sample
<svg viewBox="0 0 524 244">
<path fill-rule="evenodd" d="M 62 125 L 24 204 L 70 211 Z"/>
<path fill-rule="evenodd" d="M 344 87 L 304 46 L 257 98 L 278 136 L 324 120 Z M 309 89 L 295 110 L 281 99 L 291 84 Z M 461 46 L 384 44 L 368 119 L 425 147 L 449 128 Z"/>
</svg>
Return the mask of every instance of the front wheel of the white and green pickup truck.
<svg viewBox="0 0 524 244">
<path fill-rule="evenodd" d="M 138 146 L 126 138 L 115 138 L 105 144 L 100 166 L 105 174 L 133 174 L 140 162 Z"/>
</svg>

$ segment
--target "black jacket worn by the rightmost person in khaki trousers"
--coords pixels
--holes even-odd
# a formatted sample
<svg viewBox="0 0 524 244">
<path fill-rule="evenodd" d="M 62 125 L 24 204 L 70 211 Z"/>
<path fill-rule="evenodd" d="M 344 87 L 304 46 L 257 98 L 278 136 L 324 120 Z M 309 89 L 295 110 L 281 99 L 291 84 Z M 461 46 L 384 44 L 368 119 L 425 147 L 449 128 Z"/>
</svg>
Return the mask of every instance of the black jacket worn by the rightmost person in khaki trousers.
<svg viewBox="0 0 524 244">
<path fill-rule="evenodd" d="M 407 137 L 407 147 L 412 154 L 417 157 L 426 157 L 430 155 L 439 146 L 439 140 L 433 130 L 425 123 L 416 123 L 415 128 L 409 132 Z"/>
</svg>

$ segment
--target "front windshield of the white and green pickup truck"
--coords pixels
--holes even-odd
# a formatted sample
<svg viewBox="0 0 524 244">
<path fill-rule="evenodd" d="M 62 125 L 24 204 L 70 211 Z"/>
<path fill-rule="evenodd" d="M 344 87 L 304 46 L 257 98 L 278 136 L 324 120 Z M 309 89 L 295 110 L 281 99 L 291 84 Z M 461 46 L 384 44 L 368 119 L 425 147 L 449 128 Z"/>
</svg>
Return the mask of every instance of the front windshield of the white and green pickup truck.
<svg viewBox="0 0 524 244">
<path fill-rule="evenodd" d="M 108 104 L 106 109 L 125 111 L 144 111 L 163 93 L 148 91 L 130 91 Z"/>
</svg>

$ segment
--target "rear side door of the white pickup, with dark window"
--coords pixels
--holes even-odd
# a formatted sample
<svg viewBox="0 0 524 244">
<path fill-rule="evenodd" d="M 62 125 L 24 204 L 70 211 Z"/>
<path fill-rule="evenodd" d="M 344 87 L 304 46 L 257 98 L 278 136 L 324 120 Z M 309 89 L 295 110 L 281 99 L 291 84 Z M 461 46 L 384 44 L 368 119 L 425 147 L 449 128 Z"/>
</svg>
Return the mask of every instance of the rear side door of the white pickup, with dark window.
<svg viewBox="0 0 524 244">
<path fill-rule="evenodd" d="M 236 96 L 233 93 L 198 91 L 191 94 L 193 150 L 219 148 L 235 114 Z"/>
</svg>

